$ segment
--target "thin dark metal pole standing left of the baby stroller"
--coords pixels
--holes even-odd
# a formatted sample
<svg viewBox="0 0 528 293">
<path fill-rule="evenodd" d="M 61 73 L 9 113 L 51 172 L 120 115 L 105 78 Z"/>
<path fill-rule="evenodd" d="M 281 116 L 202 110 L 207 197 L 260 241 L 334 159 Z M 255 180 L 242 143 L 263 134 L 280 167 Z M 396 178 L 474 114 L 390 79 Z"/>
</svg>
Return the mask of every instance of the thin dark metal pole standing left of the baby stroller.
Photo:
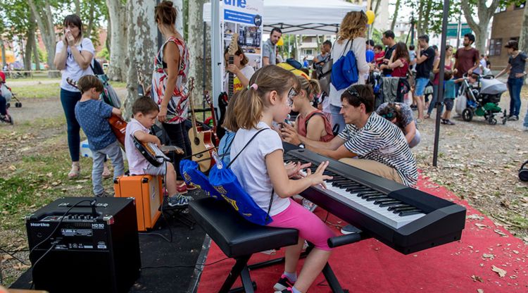
<svg viewBox="0 0 528 293">
<path fill-rule="evenodd" d="M 441 104 L 444 102 L 444 66 L 446 65 L 447 18 L 449 14 L 449 0 L 444 0 L 444 18 L 442 20 L 442 41 L 440 51 L 440 72 L 438 84 L 438 98 L 436 99 L 436 124 L 434 127 L 433 166 L 438 163 L 438 144 L 440 138 Z"/>
</svg>

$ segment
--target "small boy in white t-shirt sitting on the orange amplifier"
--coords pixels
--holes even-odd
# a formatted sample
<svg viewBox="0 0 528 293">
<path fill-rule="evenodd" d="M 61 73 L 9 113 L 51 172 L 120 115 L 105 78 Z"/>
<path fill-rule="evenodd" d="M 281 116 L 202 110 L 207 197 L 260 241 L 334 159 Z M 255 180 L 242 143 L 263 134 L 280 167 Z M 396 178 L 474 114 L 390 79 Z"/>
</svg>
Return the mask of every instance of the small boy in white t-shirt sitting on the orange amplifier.
<svg viewBox="0 0 528 293">
<path fill-rule="evenodd" d="M 186 206 L 191 201 L 191 197 L 186 197 L 177 192 L 176 172 L 172 163 L 164 163 L 159 167 L 154 167 L 146 161 L 146 158 L 134 146 L 134 136 L 140 142 L 152 142 L 161 146 L 160 139 L 150 134 L 149 128 L 156 122 L 159 108 L 149 96 L 139 97 L 132 105 L 132 115 L 134 118 L 127 124 L 125 135 L 125 151 L 127 153 L 128 166 L 132 175 L 160 175 L 165 176 L 167 185 L 168 205 Z"/>
</svg>

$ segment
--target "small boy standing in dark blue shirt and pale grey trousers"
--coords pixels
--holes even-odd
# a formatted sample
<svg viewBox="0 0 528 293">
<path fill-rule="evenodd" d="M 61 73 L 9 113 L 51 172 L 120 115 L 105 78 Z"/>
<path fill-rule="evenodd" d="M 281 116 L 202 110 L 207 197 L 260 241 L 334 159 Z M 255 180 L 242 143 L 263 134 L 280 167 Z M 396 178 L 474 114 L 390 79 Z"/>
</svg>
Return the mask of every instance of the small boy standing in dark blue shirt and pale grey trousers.
<svg viewBox="0 0 528 293">
<path fill-rule="evenodd" d="M 112 114 L 121 116 L 118 108 L 99 100 L 103 92 L 103 83 L 94 75 L 85 75 L 77 81 L 81 99 L 75 105 L 75 118 L 88 138 L 88 144 L 94 157 L 92 166 L 92 185 L 96 197 L 108 197 L 103 188 L 104 159 L 108 155 L 113 165 L 113 178 L 123 175 L 125 166 L 122 162 L 121 148 L 113 134 L 108 118 Z"/>
</svg>

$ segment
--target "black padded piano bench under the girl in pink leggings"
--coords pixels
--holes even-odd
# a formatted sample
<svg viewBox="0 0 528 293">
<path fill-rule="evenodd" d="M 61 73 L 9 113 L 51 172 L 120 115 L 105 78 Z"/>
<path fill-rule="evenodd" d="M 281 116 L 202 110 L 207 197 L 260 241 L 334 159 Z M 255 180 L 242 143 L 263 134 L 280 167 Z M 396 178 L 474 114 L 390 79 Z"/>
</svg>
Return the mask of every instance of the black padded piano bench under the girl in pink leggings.
<svg viewBox="0 0 528 293">
<path fill-rule="evenodd" d="M 253 224 L 234 211 L 230 204 L 213 198 L 198 199 L 189 204 L 196 223 L 218 244 L 222 252 L 237 262 L 225 279 L 220 293 L 230 292 L 240 276 L 246 293 L 253 293 L 256 284 L 251 281 L 247 263 L 252 254 L 296 244 L 298 231 Z M 236 291 L 240 291 L 237 289 Z"/>
</svg>

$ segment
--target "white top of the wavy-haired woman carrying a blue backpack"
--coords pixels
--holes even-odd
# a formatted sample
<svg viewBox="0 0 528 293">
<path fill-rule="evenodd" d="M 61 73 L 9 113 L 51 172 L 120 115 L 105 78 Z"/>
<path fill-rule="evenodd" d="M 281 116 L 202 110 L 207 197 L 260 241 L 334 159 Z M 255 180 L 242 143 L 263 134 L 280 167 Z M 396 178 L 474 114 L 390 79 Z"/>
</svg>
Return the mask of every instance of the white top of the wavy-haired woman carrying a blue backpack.
<svg viewBox="0 0 528 293">
<path fill-rule="evenodd" d="M 339 57 L 346 55 L 350 51 L 350 43 L 346 46 L 346 40 L 341 44 L 339 42 L 334 42 L 332 46 L 332 60 L 336 62 Z M 354 85 L 365 85 L 365 76 L 368 76 L 368 71 L 370 67 L 367 63 L 367 57 L 365 56 L 365 50 L 367 48 L 364 37 L 356 37 L 352 42 L 352 51 L 356 55 L 356 64 L 358 65 L 358 82 Z M 330 104 L 341 107 L 341 94 L 345 92 L 346 89 L 337 90 L 332 83 L 330 83 Z"/>
</svg>

